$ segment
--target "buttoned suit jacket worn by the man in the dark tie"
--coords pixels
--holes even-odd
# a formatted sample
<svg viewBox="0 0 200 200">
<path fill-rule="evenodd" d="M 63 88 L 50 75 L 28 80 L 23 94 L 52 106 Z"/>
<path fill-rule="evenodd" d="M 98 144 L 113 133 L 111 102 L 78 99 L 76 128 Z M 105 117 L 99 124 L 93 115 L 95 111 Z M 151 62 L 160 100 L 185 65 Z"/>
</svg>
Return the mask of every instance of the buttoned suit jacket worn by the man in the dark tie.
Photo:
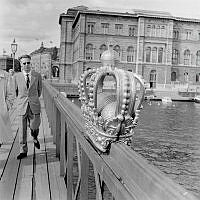
<svg viewBox="0 0 200 200">
<path fill-rule="evenodd" d="M 16 91 L 18 94 L 16 95 Z M 13 93 L 15 98 L 15 106 L 19 114 L 24 115 L 27 110 L 28 103 L 33 114 L 40 113 L 39 97 L 42 92 L 42 78 L 41 75 L 35 71 L 31 71 L 31 81 L 29 89 L 26 86 L 26 80 L 23 72 L 18 72 L 13 77 Z"/>
</svg>

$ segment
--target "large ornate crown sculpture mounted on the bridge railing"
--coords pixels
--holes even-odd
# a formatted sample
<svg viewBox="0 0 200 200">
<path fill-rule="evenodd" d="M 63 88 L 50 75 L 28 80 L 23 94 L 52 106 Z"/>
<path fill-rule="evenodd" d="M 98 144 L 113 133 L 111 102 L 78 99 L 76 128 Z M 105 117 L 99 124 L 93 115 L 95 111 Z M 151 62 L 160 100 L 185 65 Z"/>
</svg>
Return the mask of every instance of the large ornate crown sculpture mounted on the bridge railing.
<svg viewBox="0 0 200 200">
<path fill-rule="evenodd" d="M 140 76 L 116 67 L 114 50 L 104 51 L 101 62 L 81 75 L 79 94 L 86 135 L 98 150 L 108 152 L 114 142 L 131 143 L 145 89 Z"/>
</svg>

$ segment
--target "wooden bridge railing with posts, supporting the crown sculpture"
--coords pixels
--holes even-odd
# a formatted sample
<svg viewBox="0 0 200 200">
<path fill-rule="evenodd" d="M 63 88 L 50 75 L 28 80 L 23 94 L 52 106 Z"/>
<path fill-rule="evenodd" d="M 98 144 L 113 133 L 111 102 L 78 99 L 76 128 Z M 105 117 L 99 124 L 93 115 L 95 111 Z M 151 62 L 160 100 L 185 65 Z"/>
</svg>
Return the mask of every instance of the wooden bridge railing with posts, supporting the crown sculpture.
<svg viewBox="0 0 200 200">
<path fill-rule="evenodd" d="M 84 133 L 80 108 L 47 82 L 43 98 L 67 200 L 197 200 L 124 144 L 99 154 Z"/>
</svg>

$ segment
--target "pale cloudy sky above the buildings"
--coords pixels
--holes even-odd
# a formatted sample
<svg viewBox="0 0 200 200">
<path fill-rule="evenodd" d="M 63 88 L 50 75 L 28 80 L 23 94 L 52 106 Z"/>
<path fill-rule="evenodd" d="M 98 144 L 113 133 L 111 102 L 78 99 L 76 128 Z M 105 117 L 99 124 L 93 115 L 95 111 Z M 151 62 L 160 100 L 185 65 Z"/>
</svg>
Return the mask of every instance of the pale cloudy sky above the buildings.
<svg viewBox="0 0 200 200">
<path fill-rule="evenodd" d="M 176 17 L 200 19 L 199 0 L 0 0 L 0 55 L 30 54 L 41 46 L 60 46 L 59 16 L 84 5 L 90 9 L 130 12 L 133 9 L 169 12 Z"/>
</svg>

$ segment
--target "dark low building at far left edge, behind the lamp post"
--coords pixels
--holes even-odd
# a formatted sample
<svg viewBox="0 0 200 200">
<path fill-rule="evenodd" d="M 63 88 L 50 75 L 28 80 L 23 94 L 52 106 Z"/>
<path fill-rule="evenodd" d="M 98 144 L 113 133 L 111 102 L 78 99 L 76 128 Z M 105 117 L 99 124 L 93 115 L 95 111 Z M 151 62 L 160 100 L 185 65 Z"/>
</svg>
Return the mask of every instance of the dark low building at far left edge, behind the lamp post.
<svg viewBox="0 0 200 200">
<path fill-rule="evenodd" d="M 15 71 L 21 71 L 20 63 L 17 59 L 15 59 Z M 6 70 L 7 72 L 9 69 L 13 68 L 13 58 L 8 55 L 1 55 L 0 56 L 0 69 Z"/>
</svg>

